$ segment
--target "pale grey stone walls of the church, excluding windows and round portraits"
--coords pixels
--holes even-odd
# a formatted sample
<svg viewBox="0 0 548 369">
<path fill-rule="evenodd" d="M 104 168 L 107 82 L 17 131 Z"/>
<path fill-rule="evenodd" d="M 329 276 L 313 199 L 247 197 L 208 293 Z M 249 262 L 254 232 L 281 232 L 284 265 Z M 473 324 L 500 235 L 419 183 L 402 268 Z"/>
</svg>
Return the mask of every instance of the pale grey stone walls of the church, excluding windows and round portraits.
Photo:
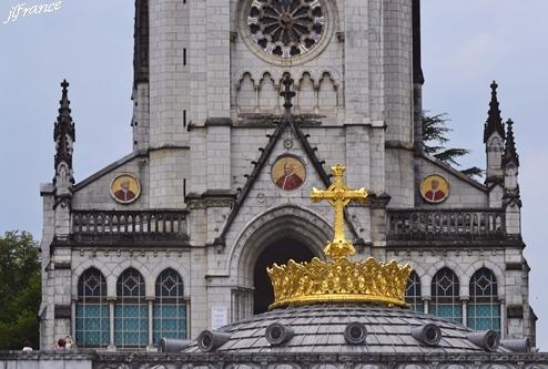
<svg viewBox="0 0 548 369">
<path fill-rule="evenodd" d="M 67 334 L 77 336 L 78 283 L 91 267 L 106 280 L 110 349 L 116 348 L 116 280 L 130 267 L 143 275 L 149 311 L 159 275 L 166 268 L 179 273 L 190 337 L 219 321 L 248 317 L 258 287 L 254 266 L 263 252 L 291 240 L 323 257 L 332 213 L 326 204 L 312 204 L 308 194 L 313 186 L 328 184 L 335 163 L 347 166 L 351 186 L 365 186 L 371 194 L 369 202 L 351 207 L 346 217 L 356 257 L 409 263 L 420 277 L 425 301 L 432 298 L 435 273 L 450 267 L 464 305 L 471 275 L 487 267 L 499 286 L 503 337 L 534 340 L 520 236 L 519 163 L 511 161 L 511 151 L 503 153 L 501 121 L 495 116 L 486 125 L 487 184 L 428 157 L 415 142 L 420 132 L 416 112 L 422 110 L 419 55 L 413 47 L 418 2 L 321 3 L 327 14 L 325 44 L 314 58 L 293 64 L 258 55 L 262 51 L 250 45 L 248 1 L 136 1 L 133 153 L 77 184 L 68 171 L 71 162 L 55 161 L 55 181 L 41 187 L 42 348 Z M 284 73 L 291 74 L 296 93 L 290 126 L 281 117 Z M 69 124 L 67 119 L 60 116 L 60 122 Z M 62 134 L 55 135 L 58 152 L 68 142 L 72 155 L 73 140 Z M 506 161 L 497 156 L 503 154 Z M 271 170 L 280 157 L 303 163 L 301 188 L 276 187 Z M 435 205 L 419 195 L 422 180 L 432 173 L 450 183 L 450 195 Z M 129 205 L 111 195 L 120 174 L 141 184 L 140 197 Z M 489 223 L 485 228 L 493 233 L 481 228 L 475 234 L 474 222 L 455 221 L 444 226 L 448 233 L 423 235 L 424 228 L 413 228 L 418 212 L 448 214 L 447 219 L 481 213 L 484 221 L 485 214 L 495 214 L 493 219 L 504 224 Z M 148 321 L 145 344 L 153 346 L 152 312 Z"/>
</svg>

